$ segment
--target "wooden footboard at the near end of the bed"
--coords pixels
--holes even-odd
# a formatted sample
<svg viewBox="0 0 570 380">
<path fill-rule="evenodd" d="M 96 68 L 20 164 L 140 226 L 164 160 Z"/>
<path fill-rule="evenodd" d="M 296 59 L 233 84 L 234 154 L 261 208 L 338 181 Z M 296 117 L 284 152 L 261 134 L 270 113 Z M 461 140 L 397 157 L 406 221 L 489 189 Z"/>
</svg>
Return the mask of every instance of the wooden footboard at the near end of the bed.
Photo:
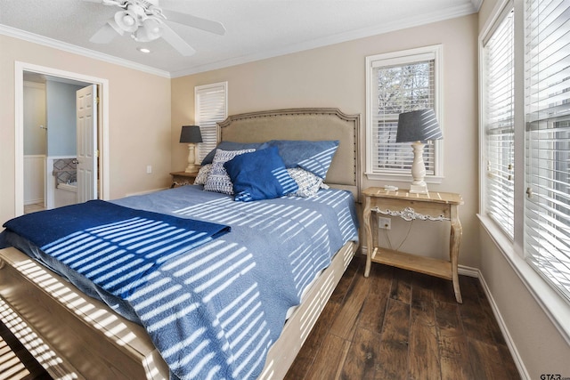
<svg viewBox="0 0 570 380">
<path fill-rule="evenodd" d="M 51 376 L 168 378 L 166 363 L 141 326 L 15 248 L 0 250 L 0 261 L 0 318 Z M 29 332 L 36 338 L 29 339 Z"/>
</svg>

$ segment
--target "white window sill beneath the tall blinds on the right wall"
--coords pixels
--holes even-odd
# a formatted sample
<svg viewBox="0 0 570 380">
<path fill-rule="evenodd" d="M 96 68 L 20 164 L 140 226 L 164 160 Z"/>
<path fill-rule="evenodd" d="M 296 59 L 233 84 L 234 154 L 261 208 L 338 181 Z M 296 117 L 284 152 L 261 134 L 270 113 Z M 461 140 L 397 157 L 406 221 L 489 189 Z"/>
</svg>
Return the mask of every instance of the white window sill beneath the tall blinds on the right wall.
<svg viewBox="0 0 570 380">
<path fill-rule="evenodd" d="M 512 241 L 502 233 L 489 217 L 481 214 L 477 214 L 477 217 L 513 271 L 517 273 L 518 278 L 521 279 L 529 293 L 533 295 L 533 298 L 558 329 L 566 343 L 570 344 L 570 324 L 568 323 L 570 320 L 570 304 L 525 262 L 523 256 L 516 252 L 517 249 Z"/>
</svg>

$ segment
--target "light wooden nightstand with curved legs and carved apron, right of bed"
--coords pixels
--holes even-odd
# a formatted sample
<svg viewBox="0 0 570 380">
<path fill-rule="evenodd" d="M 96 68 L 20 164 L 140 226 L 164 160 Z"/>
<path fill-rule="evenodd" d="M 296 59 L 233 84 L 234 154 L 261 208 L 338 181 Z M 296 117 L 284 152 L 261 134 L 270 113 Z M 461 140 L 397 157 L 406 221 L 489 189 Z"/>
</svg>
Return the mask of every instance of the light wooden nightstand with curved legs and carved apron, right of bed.
<svg viewBox="0 0 570 380">
<path fill-rule="evenodd" d="M 408 190 L 385 190 L 368 188 L 362 191 L 364 196 L 363 221 L 366 233 L 366 269 L 364 277 L 371 271 L 371 263 L 383 263 L 409 271 L 418 271 L 442 279 L 451 279 L 453 291 L 458 303 L 462 303 L 460 282 L 457 272 L 461 223 L 458 206 L 463 205 L 459 194 L 448 192 L 429 192 L 428 194 L 411 194 Z M 374 212 L 374 214 L 372 214 Z M 450 222 L 449 260 L 439 260 L 420 255 L 406 254 L 387 248 L 378 247 L 377 214 L 400 216 L 411 222 L 415 219 L 433 222 Z M 374 232 L 374 233 L 372 233 Z"/>
</svg>

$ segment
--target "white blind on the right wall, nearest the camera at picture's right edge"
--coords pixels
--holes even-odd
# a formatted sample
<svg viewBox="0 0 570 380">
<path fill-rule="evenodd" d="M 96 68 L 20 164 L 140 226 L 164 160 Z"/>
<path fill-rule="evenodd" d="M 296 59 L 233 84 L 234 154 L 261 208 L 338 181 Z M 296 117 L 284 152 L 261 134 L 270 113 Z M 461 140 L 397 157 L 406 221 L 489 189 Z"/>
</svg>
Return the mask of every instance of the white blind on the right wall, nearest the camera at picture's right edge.
<svg viewBox="0 0 570 380">
<path fill-rule="evenodd" d="M 570 300 L 570 2 L 525 8 L 525 254 Z"/>
</svg>

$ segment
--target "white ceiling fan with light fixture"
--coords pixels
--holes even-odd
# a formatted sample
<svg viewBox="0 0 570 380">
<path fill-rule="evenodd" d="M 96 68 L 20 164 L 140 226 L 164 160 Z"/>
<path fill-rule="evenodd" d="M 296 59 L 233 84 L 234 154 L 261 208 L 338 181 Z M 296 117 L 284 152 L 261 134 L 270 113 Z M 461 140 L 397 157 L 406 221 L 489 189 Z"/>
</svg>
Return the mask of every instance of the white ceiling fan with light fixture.
<svg viewBox="0 0 570 380">
<path fill-rule="evenodd" d="M 224 36 L 224 25 L 217 21 L 201 19 L 191 14 L 175 12 L 159 7 L 159 0 L 83 0 L 90 3 L 115 5 L 120 8 L 107 20 L 89 41 L 95 44 L 108 44 L 117 35 L 130 34 L 137 42 L 150 42 L 162 37 L 183 56 L 191 56 L 196 51 L 181 36 L 168 27 L 166 21 L 176 22 L 192 28 L 199 28 L 216 35 Z"/>
</svg>

